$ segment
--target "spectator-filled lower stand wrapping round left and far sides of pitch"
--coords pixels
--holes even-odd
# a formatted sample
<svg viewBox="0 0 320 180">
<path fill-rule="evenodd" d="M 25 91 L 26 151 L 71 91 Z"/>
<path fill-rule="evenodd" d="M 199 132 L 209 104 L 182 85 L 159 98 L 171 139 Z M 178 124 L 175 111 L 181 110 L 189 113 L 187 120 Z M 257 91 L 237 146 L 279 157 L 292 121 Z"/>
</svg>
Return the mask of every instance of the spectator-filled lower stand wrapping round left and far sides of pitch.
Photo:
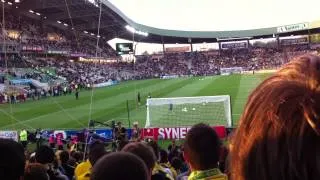
<svg viewBox="0 0 320 180">
<path fill-rule="evenodd" d="M 233 52 L 222 55 L 208 55 L 207 52 L 165 54 L 161 59 L 153 56 L 137 57 L 136 62 L 92 63 L 56 60 L 55 58 L 36 58 L 32 62 L 37 66 L 28 68 L 9 68 L 10 77 L 16 79 L 34 79 L 49 83 L 50 88 L 24 87 L 25 99 L 33 97 L 60 96 L 75 91 L 75 85 L 81 89 L 90 89 L 94 84 L 108 81 L 159 78 L 163 76 L 203 76 L 221 74 L 221 68 L 242 67 L 243 71 L 277 69 L 294 56 L 317 54 L 316 50 L 293 48 L 279 52 L 275 49 L 255 48 L 252 52 Z M 231 55 L 230 55 L 231 54 Z M 18 63 L 18 62 L 17 62 Z M 18 63 L 21 64 L 21 63 Z M 4 66 L 2 66 L 4 68 Z M 6 76 L 2 81 L 10 81 Z M 40 91 L 40 92 L 37 92 Z M 56 93 L 54 93 L 56 92 Z M 18 93 L 19 94 L 19 93 Z M 22 95 L 22 94 L 20 94 Z M 10 101 L 10 94 L 2 93 L 2 103 Z M 15 94 L 14 96 L 19 96 Z M 21 101 L 21 97 L 15 97 Z"/>
</svg>

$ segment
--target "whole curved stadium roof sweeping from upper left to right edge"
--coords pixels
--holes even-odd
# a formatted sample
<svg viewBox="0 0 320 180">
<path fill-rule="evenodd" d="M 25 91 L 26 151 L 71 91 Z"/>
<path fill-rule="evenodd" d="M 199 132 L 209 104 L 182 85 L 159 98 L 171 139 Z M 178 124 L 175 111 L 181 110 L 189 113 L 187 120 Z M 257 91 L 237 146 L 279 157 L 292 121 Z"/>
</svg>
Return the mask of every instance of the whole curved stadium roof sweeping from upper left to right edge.
<svg viewBox="0 0 320 180">
<path fill-rule="evenodd" d="M 13 2 L 13 0 L 10 1 Z M 96 34 L 98 29 L 99 8 L 97 5 L 95 5 L 95 2 L 95 0 L 21 0 L 21 2 L 17 4 L 18 8 L 15 8 L 15 4 L 8 7 L 11 8 L 14 13 L 20 13 L 34 19 L 43 19 L 45 25 L 55 26 L 62 30 L 71 32 L 73 31 L 71 29 L 73 25 L 77 32 L 88 32 L 87 35 L 90 36 L 91 33 Z M 272 37 L 274 34 L 278 33 L 284 33 L 284 35 L 305 34 L 308 33 L 309 29 L 315 28 L 315 25 L 310 25 L 309 22 L 297 22 L 297 24 L 292 26 L 267 27 L 250 30 L 168 30 L 140 24 L 136 21 L 133 21 L 108 0 L 101 0 L 101 2 L 103 3 L 103 6 L 100 34 L 101 37 L 104 37 L 106 40 L 116 37 L 128 40 L 133 39 L 132 33 L 125 28 L 126 25 L 130 25 L 136 30 L 149 33 L 147 37 L 135 35 L 135 41 L 181 44 L 188 43 L 190 40 L 192 43 L 202 43 L 216 42 L 218 38 L 264 38 Z M 112 2 L 115 1 L 113 0 Z M 139 9 L 139 5 L 132 6 L 132 8 L 136 8 L 136 11 L 143 11 L 143 9 Z M 33 13 L 30 13 L 30 10 Z M 228 10 L 225 12 L 228 13 Z M 318 11 L 315 13 L 317 12 Z M 40 15 L 37 15 L 36 13 Z M 155 21 L 158 20 L 155 19 Z M 315 24 L 318 27 L 318 24 Z"/>
</svg>

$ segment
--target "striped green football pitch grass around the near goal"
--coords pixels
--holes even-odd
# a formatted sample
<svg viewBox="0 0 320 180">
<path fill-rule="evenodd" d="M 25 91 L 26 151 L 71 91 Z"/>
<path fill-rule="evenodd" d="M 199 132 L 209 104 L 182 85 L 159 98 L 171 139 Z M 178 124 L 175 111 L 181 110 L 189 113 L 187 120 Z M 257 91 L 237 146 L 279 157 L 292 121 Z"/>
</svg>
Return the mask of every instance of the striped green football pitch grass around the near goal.
<svg viewBox="0 0 320 180">
<path fill-rule="evenodd" d="M 256 74 L 127 81 L 97 88 L 93 92 L 81 91 L 79 100 L 71 94 L 3 104 L 0 105 L 0 129 L 79 129 L 88 127 L 89 119 L 105 123 L 121 121 L 127 127 L 128 117 L 131 125 L 137 121 L 143 127 L 149 93 L 152 98 L 230 95 L 232 119 L 237 125 L 248 95 L 267 76 Z M 138 92 L 141 105 L 137 103 Z M 164 116 L 167 115 L 164 113 Z M 166 121 L 163 117 L 160 119 Z M 196 123 L 197 118 L 192 121 Z M 170 121 L 163 123 L 167 122 Z"/>
</svg>

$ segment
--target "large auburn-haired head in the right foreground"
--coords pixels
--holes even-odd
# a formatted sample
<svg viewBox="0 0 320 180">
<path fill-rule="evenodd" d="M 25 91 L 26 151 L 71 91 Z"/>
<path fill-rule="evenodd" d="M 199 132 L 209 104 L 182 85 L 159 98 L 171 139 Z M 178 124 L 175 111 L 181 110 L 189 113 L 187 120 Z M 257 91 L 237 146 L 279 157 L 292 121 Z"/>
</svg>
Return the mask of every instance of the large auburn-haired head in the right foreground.
<svg viewBox="0 0 320 180">
<path fill-rule="evenodd" d="M 320 59 L 303 56 L 249 96 L 232 139 L 234 180 L 318 179 Z"/>
</svg>

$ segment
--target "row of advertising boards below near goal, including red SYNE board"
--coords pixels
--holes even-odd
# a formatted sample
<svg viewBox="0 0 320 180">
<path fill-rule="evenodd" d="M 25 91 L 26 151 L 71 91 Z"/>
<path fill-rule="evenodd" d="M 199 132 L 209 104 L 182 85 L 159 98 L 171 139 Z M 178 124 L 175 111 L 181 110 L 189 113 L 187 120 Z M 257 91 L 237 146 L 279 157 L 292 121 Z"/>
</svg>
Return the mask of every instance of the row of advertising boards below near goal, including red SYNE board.
<svg viewBox="0 0 320 180">
<path fill-rule="evenodd" d="M 224 139 L 232 132 L 232 128 L 226 128 L 224 126 L 212 126 L 221 139 Z M 154 140 L 181 140 L 184 139 L 191 127 L 166 127 L 166 128 L 141 128 L 141 139 L 152 138 Z M 19 131 L 0 131 L 0 138 L 12 139 L 19 141 Z M 62 137 L 63 140 L 72 140 L 77 138 L 80 140 L 80 134 L 88 133 L 83 130 L 42 130 L 41 137 L 43 139 L 49 139 L 51 135 L 54 137 Z M 113 138 L 112 129 L 96 129 L 94 133 L 100 137 L 104 142 L 110 142 Z M 127 137 L 130 139 L 132 135 L 132 129 L 127 129 Z"/>
</svg>

